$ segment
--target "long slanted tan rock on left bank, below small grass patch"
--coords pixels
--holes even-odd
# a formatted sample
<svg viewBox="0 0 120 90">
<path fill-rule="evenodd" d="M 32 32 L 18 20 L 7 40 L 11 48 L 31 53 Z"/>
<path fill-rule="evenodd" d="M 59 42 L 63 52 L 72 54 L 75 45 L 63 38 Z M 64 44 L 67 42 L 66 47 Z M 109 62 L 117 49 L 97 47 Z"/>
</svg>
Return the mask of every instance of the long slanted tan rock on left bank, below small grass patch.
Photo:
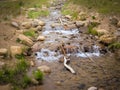
<svg viewBox="0 0 120 90">
<path fill-rule="evenodd" d="M 33 45 L 33 41 L 31 39 L 29 39 L 27 36 L 23 35 L 23 34 L 20 34 L 18 36 L 18 39 L 20 39 L 23 44 L 26 44 L 28 46 L 32 46 Z"/>
</svg>

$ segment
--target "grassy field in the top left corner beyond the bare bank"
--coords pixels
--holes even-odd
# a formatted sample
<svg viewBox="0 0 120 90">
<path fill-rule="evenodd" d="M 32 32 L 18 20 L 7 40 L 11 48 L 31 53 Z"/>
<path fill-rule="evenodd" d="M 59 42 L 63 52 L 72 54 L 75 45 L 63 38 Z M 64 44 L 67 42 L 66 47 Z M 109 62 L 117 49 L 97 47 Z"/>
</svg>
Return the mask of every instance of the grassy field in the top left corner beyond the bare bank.
<svg viewBox="0 0 120 90">
<path fill-rule="evenodd" d="M 49 0 L 6 0 L 0 1 L 0 20 L 9 20 L 21 14 L 21 7 L 41 8 L 42 5 L 49 6 Z"/>
</svg>

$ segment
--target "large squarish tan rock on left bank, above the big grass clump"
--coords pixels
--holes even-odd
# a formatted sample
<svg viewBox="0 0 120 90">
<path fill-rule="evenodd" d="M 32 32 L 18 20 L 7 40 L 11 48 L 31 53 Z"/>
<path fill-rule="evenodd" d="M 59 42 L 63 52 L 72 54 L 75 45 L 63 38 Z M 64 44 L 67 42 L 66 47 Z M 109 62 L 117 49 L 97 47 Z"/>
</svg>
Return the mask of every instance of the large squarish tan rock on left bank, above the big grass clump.
<svg viewBox="0 0 120 90">
<path fill-rule="evenodd" d="M 20 55 L 23 53 L 21 46 L 11 46 L 10 47 L 10 55 L 14 57 L 15 55 Z"/>
</svg>

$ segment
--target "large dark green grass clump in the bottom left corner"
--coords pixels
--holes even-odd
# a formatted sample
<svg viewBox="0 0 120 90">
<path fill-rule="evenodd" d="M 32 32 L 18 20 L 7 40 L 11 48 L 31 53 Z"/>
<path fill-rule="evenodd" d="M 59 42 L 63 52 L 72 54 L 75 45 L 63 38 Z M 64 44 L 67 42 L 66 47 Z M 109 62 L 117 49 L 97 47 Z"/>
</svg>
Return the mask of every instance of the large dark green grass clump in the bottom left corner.
<svg viewBox="0 0 120 90">
<path fill-rule="evenodd" d="M 26 75 L 28 67 L 29 65 L 24 59 L 18 61 L 14 68 L 5 65 L 0 69 L 0 84 L 11 83 L 14 87 L 13 89 L 29 86 L 31 79 Z"/>
</svg>

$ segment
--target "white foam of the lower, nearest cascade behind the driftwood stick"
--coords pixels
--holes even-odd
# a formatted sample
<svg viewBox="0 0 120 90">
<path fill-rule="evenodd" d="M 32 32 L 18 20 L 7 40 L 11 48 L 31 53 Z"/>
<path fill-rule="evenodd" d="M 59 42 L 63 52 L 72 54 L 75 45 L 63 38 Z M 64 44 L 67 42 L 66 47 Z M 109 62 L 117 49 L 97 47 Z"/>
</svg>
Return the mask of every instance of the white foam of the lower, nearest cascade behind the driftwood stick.
<svg viewBox="0 0 120 90">
<path fill-rule="evenodd" d="M 100 56 L 99 47 L 94 45 L 93 49 L 94 49 L 93 53 L 90 53 L 90 52 L 83 53 L 83 52 L 79 51 L 78 53 L 71 53 L 71 54 L 67 54 L 67 55 L 82 57 L 82 58 L 88 58 L 88 57 L 94 57 L 94 56 L 99 57 Z M 51 51 L 48 49 L 41 49 L 41 51 L 36 52 L 36 54 L 37 54 L 36 59 L 38 59 L 38 60 L 42 59 L 42 60 L 45 60 L 48 62 L 56 61 L 56 60 L 59 60 L 61 57 L 63 57 L 63 55 L 60 54 L 59 52 L 54 52 L 54 51 Z"/>
</svg>

